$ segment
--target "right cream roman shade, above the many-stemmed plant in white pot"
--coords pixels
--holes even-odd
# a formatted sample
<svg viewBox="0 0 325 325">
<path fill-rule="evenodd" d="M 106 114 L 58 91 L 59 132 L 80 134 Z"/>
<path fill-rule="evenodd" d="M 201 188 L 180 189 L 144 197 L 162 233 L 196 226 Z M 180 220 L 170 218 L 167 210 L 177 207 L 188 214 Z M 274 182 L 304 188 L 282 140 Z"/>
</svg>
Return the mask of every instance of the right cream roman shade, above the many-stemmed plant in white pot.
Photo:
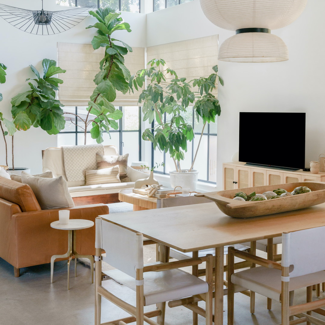
<svg viewBox="0 0 325 325">
<path fill-rule="evenodd" d="M 165 67 L 175 70 L 178 78 L 187 78 L 187 82 L 213 73 L 217 55 L 218 35 L 147 47 L 147 62 L 164 59 Z"/>
</svg>

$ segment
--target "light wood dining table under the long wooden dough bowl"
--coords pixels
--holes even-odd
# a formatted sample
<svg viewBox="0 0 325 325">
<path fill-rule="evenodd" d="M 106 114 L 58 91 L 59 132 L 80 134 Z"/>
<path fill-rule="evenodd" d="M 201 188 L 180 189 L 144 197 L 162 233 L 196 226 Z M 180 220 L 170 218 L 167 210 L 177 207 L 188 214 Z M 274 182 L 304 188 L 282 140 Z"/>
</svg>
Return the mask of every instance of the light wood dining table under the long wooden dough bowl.
<svg viewBox="0 0 325 325">
<path fill-rule="evenodd" d="M 325 203 L 278 214 L 232 218 L 214 202 L 101 215 L 117 225 L 141 232 L 149 239 L 181 252 L 215 248 L 214 324 L 223 324 L 224 246 L 268 239 L 325 225 Z M 166 251 L 166 250 L 165 250 Z M 161 252 L 164 252 L 162 249 Z M 161 261 L 166 256 L 161 254 Z"/>
</svg>

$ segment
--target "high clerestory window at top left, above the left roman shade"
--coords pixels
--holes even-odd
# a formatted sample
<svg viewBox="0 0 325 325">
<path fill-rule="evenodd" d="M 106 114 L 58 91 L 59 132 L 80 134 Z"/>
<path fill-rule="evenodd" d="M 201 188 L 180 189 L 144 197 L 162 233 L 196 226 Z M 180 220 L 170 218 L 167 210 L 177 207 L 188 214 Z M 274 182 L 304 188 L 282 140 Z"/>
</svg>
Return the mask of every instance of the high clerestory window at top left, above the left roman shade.
<svg viewBox="0 0 325 325">
<path fill-rule="evenodd" d="M 140 0 L 57 0 L 57 5 L 72 7 L 96 6 L 96 8 L 110 7 L 121 11 L 140 12 Z"/>
</svg>

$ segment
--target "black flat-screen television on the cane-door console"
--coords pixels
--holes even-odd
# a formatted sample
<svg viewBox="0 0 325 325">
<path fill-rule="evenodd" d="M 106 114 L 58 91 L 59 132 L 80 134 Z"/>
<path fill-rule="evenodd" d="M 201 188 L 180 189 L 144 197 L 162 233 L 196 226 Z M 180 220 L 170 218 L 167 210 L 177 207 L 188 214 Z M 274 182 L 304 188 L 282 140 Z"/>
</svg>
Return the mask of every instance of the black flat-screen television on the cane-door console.
<svg viewBox="0 0 325 325">
<path fill-rule="evenodd" d="M 265 168 L 305 168 L 306 113 L 240 112 L 239 161 Z"/>
</svg>

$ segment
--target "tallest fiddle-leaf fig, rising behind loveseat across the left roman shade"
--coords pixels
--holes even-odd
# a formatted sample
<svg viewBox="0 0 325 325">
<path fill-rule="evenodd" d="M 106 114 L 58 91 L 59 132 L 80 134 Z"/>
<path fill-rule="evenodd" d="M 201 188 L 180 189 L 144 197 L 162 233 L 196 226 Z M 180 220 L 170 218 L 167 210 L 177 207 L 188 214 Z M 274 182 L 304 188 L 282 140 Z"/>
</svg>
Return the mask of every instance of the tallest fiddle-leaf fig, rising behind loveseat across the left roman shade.
<svg viewBox="0 0 325 325">
<path fill-rule="evenodd" d="M 112 102 L 116 98 L 116 91 L 126 94 L 129 91 L 130 71 L 124 65 L 124 55 L 132 52 L 132 48 L 121 40 L 112 38 L 115 31 L 126 30 L 131 32 L 130 25 L 123 21 L 120 12 L 111 8 L 99 8 L 89 12 L 98 22 L 86 28 L 97 28 L 98 35 L 92 40 L 93 48 L 105 47 L 105 56 L 100 61 L 100 71 L 96 74 L 94 82 L 97 85 L 88 103 L 88 114 L 84 120 L 85 144 L 87 127 L 91 123 L 91 137 L 97 143 L 103 142 L 102 133 L 109 134 L 110 128 L 117 130 L 116 122 L 123 113 L 116 109 Z M 89 119 L 89 115 L 96 117 Z"/>
</svg>

